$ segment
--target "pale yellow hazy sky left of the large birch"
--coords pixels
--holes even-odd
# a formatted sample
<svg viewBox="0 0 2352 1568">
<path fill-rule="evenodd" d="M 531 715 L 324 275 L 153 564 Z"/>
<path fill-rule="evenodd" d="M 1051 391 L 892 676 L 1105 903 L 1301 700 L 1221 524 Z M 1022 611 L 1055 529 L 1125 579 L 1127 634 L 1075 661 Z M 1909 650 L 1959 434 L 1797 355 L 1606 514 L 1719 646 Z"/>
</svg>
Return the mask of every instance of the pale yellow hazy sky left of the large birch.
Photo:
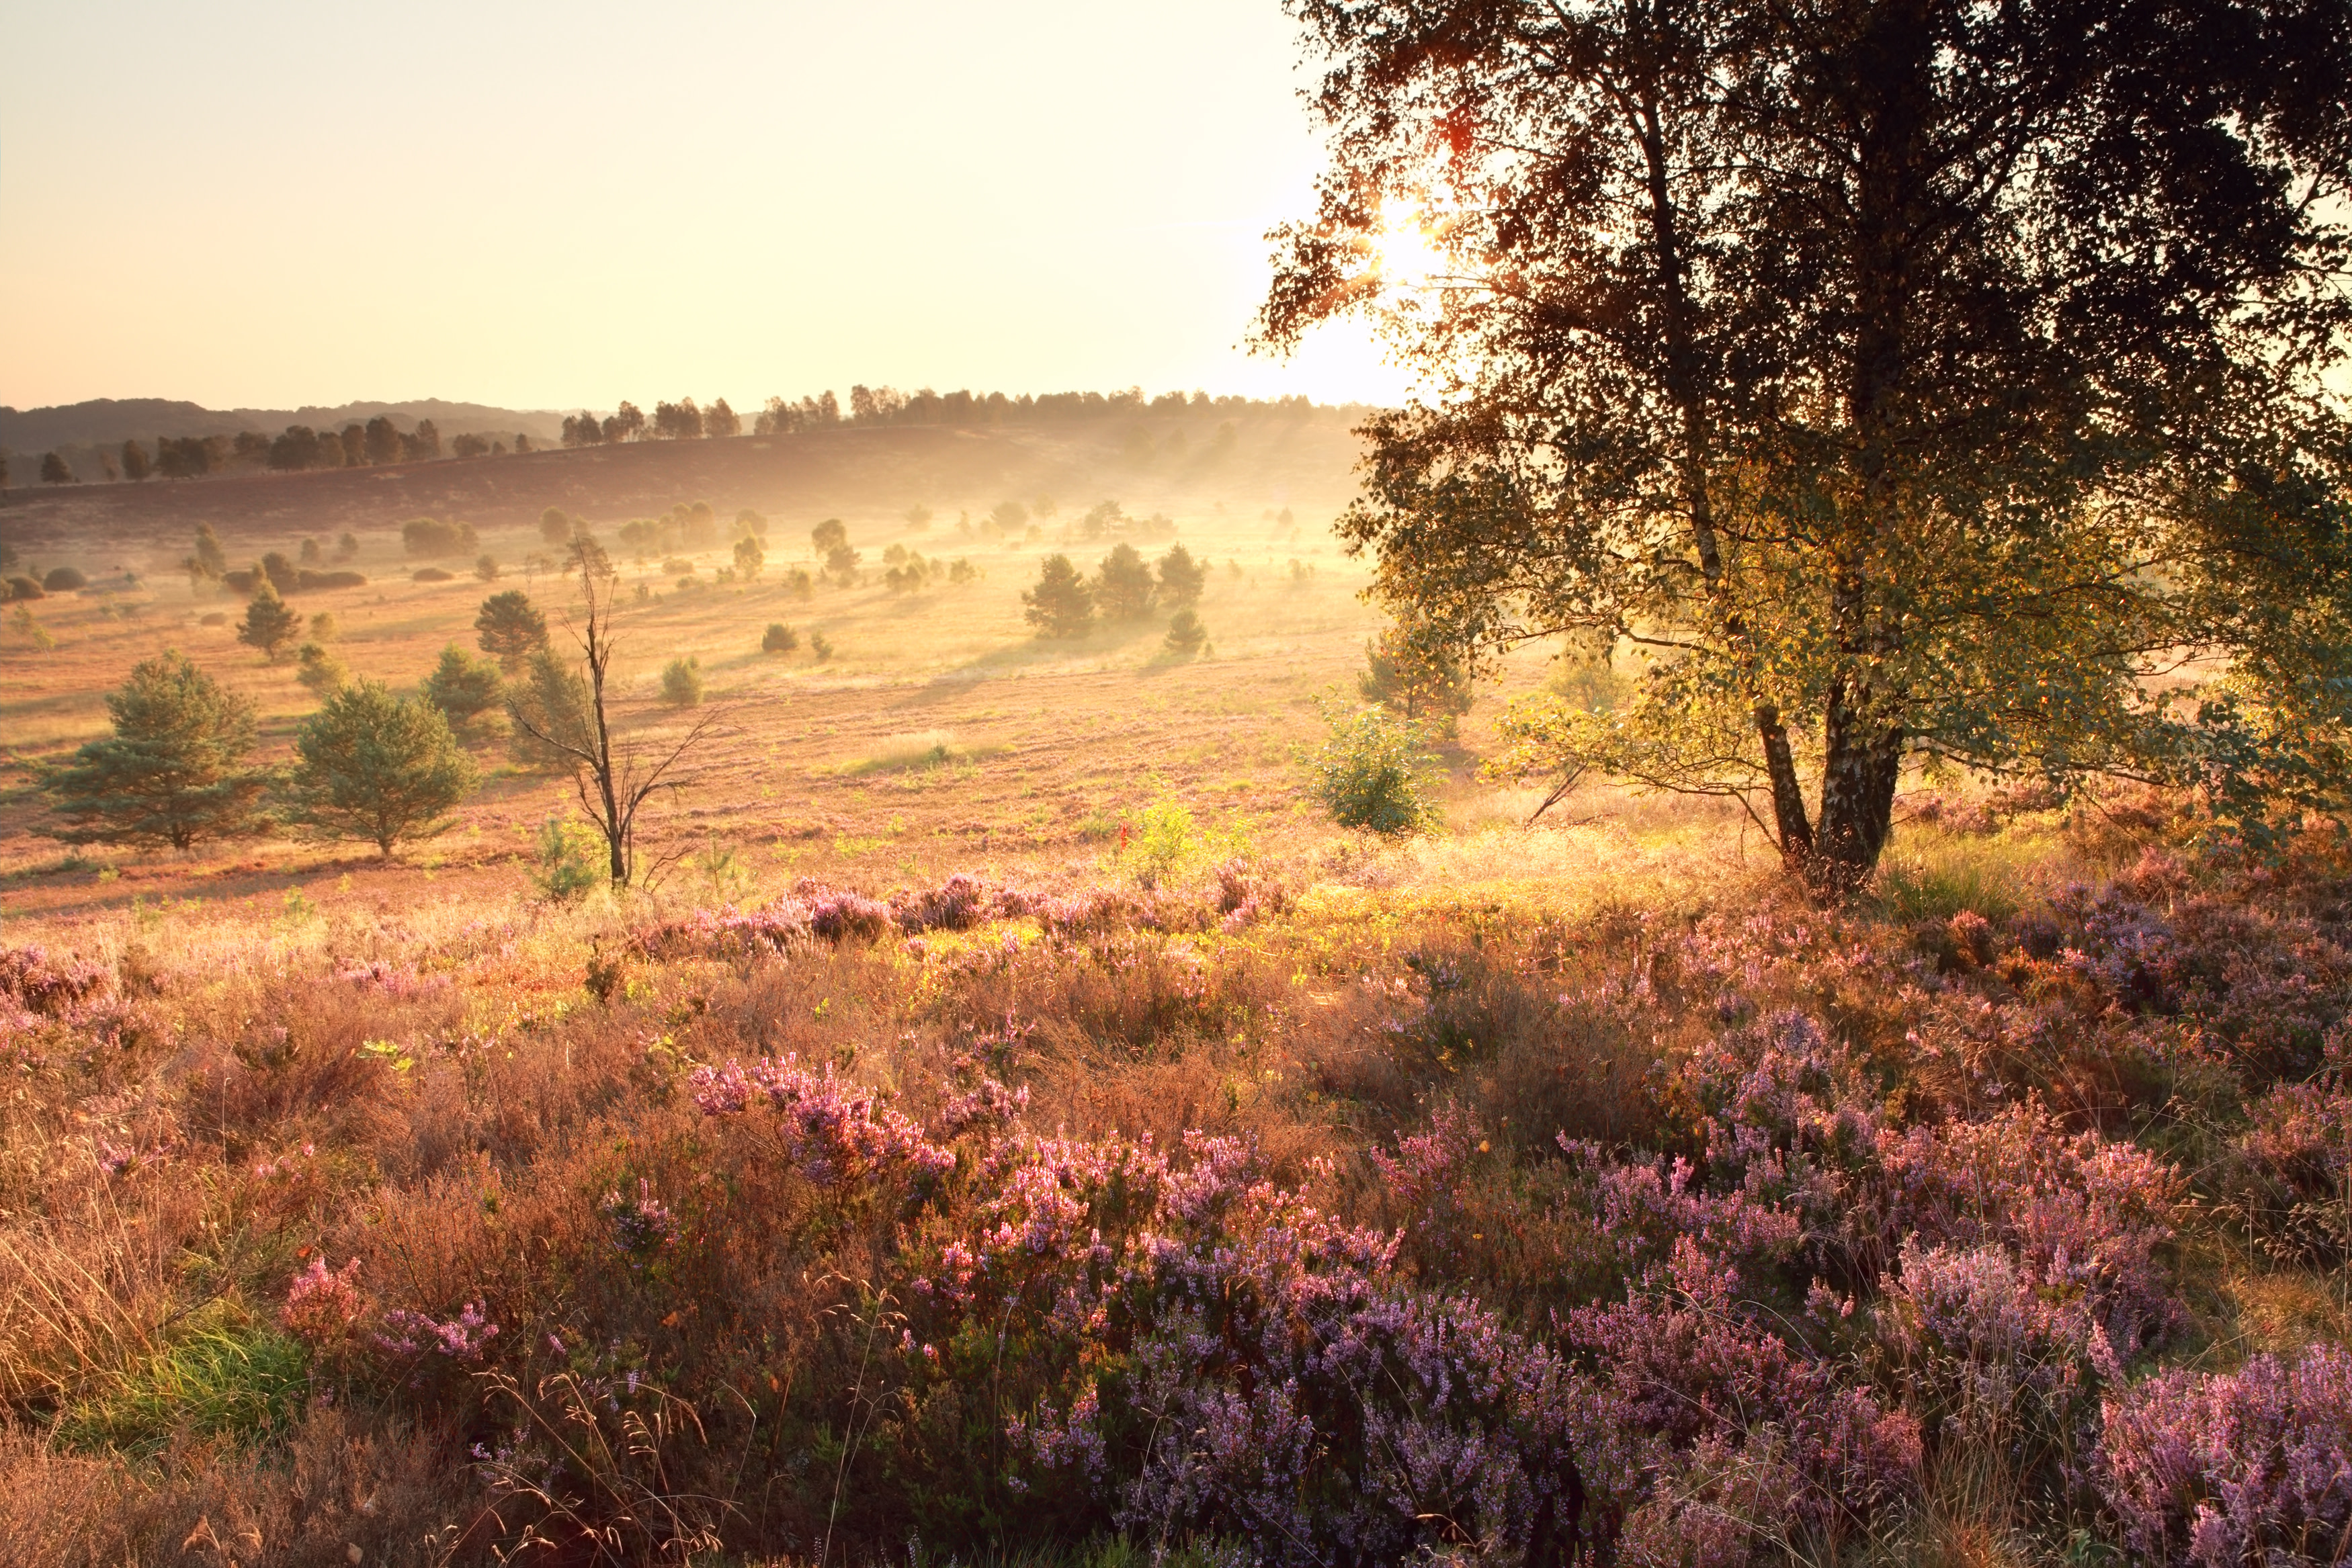
<svg viewBox="0 0 2352 1568">
<path fill-rule="evenodd" d="M 1395 397 L 1277 0 L 0 0 L 0 402 Z"/>
</svg>

